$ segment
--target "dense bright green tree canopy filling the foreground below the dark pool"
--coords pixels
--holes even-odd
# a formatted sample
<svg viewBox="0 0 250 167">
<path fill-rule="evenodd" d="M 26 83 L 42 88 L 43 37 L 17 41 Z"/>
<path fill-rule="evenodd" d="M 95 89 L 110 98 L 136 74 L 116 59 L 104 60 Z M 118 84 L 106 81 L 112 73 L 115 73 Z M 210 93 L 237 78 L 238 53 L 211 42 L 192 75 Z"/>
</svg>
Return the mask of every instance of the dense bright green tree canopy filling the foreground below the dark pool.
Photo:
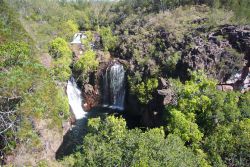
<svg viewBox="0 0 250 167">
<path fill-rule="evenodd" d="M 128 130 L 123 119 L 113 116 L 103 121 L 91 119 L 89 133 L 80 149 L 83 151 L 67 157 L 63 163 L 69 166 L 248 166 L 249 93 L 218 91 L 216 82 L 202 72 L 192 73 L 192 79 L 185 84 L 172 82 L 178 102 L 166 106 L 164 130 Z"/>
</svg>

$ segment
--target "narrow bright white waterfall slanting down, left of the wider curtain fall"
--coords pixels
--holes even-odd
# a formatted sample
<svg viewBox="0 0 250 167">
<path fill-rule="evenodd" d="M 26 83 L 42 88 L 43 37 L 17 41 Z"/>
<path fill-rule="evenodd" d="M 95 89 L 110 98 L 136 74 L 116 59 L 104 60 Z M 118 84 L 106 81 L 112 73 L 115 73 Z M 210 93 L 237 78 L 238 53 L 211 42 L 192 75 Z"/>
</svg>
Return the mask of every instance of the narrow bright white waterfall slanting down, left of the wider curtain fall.
<svg viewBox="0 0 250 167">
<path fill-rule="evenodd" d="M 70 78 L 67 84 L 67 95 L 69 99 L 69 105 L 76 119 L 82 119 L 85 117 L 86 112 L 82 108 L 81 91 L 77 87 L 75 79 Z"/>
</svg>

